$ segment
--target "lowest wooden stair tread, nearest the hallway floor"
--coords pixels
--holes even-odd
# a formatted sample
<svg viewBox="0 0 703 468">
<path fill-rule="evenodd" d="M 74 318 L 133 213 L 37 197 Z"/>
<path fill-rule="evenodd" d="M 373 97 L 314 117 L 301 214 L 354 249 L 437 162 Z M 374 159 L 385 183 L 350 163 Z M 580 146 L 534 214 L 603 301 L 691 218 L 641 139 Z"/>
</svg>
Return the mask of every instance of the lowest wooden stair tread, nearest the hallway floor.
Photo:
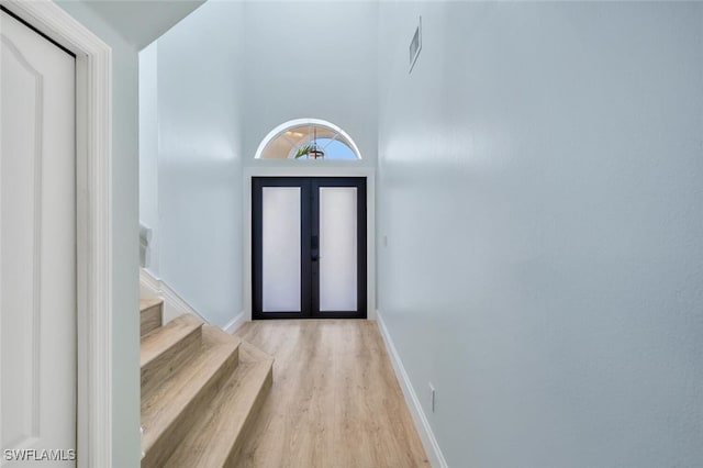
<svg viewBox="0 0 703 468">
<path fill-rule="evenodd" d="M 165 464 L 168 467 L 224 467 L 243 445 L 250 424 L 271 386 L 274 359 L 246 342 L 239 345 L 239 366 L 203 409 L 185 439 Z"/>
</svg>

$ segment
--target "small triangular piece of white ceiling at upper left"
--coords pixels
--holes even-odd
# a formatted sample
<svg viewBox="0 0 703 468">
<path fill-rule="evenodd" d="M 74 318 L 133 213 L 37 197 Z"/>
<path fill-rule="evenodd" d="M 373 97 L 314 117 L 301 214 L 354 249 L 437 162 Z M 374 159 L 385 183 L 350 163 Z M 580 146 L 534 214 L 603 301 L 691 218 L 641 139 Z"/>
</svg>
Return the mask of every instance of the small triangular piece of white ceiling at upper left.
<svg viewBox="0 0 703 468">
<path fill-rule="evenodd" d="M 142 49 L 205 0 L 86 0 L 86 4 Z"/>
</svg>

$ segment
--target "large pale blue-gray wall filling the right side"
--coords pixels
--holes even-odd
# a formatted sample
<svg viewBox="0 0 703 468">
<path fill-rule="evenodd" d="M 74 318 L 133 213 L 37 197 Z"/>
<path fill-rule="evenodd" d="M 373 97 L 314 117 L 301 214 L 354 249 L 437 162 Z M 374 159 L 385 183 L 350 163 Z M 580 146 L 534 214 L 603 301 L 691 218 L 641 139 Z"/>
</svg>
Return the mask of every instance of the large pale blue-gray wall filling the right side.
<svg viewBox="0 0 703 468">
<path fill-rule="evenodd" d="M 380 8 L 379 310 L 449 466 L 700 466 L 703 5 Z"/>
</svg>

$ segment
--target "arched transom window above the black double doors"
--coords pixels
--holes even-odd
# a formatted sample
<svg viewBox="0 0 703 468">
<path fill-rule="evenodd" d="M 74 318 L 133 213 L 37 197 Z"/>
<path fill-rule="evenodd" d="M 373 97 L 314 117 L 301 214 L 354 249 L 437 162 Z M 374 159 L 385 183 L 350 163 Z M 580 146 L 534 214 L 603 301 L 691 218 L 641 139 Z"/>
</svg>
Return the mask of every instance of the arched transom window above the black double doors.
<svg viewBox="0 0 703 468">
<path fill-rule="evenodd" d="M 319 119 L 297 119 L 278 125 L 256 151 L 257 159 L 361 159 L 346 132 Z"/>
</svg>

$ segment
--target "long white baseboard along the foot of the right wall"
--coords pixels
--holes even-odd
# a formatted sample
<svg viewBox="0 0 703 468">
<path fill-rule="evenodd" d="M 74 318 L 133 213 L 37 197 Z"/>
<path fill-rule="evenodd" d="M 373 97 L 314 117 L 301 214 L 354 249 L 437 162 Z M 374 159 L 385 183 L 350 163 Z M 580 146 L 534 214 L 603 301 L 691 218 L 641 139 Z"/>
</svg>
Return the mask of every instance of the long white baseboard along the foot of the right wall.
<svg viewBox="0 0 703 468">
<path fill-rule="evenodd" d="M 415 393 L 415 390 L 413 389 L 413 386 L 410 381 L 410 377 L 408 377 L 408 372 L 405 371 L 405 367 L 403 366 L 403 361 L 400 359 L 398 349 L 395 349 L 393 338 L 391 338 L 391 335 L 388 333 L 388 328 L 386 327 L 386 323 L 383 322 L 383 316 L 378 310 L 376 311 L 376 321 L 381 332 L 381 336 L 383 337 L 383 342 L 386 342 L 386 348 L 388 349 L 388 354 L 391 357 L 393 369 L 395 369 L 395 377 L 398 377 L 400 387 L 403 390 L 403 395 L 405 397 L 405 402 L 408 403 L 408 408 L 410 409 L 410 414 L 412 414 L 413 420 L 415 421 L 415 427 L 417 427 L 420 438 L 422 439 L 422 444 L 425 447 L 425 452 L 427 453 L 427 458 L 429 458 L 429 463 L 435 468 L 448 468 L 447 460 L 442 454 L 442 449 L 439 448 L 437 439 L 432 432 L 432 427 L 429 426 L 427 416 L 425 416 L 425 412 L 420 404 L 417 393 Z"/>
</svg>

